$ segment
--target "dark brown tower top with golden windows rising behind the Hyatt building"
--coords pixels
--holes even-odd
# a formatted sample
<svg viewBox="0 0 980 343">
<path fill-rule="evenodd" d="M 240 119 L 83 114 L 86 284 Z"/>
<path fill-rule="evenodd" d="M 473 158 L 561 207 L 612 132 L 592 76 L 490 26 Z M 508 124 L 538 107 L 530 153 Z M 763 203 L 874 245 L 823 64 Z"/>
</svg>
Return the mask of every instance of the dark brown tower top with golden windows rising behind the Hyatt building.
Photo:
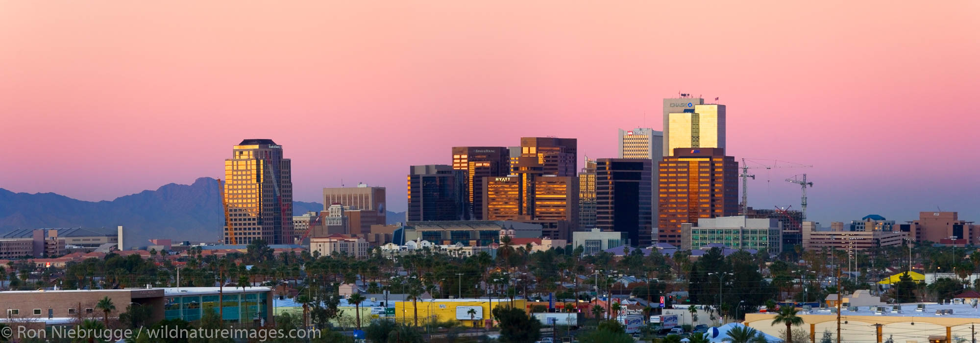
<svg viewBox="0 0 980 343">
<path fill-rule="evenodd" d="M 511 172 L 574 176 L 578 170 L 578 140 L 575 138 L 521 137 L 520 157 Z"/>
</svg>

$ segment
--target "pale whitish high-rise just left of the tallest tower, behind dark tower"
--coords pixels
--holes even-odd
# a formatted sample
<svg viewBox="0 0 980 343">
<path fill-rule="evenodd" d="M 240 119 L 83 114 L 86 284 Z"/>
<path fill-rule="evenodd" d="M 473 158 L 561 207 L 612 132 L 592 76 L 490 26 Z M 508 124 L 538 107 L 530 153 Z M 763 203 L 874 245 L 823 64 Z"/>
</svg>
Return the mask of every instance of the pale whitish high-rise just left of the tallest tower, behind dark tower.
<svg viewBox="0 0 980 343">
<path fill-rule="evenodd" d="M 624 130 L 619 129 L 619 158 L 620 159 L 648 159 L 653 163 L 651 170 L 653 182 L 650 182 L 650 194 L 653 198 L 653 213 L 657 214 L 660 205 L 657 201 L 658 189 L 660 188 L 660 169 L 657 163 L 663 159 L 663 132 L 653 128 L 637 127 Z M 654 223 L 656 226 L 656 222 Z M 652 234 L 653 232 L 651 232 Z"/>
</svg>

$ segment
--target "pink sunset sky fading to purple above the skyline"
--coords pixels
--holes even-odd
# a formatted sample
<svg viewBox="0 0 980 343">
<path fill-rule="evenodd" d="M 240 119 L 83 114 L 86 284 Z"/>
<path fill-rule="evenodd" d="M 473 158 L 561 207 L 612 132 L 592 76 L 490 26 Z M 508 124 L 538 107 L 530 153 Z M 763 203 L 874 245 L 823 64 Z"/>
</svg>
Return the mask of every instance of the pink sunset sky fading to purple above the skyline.
<svg viewBox="0 0 980 343">
<path fill-rule="evenodd" d="M 661 128 L 678 91 L 728 105 L 729 155 L 814 165 L 810 218 L 980 218 L 973 0 L 4 1 L 0 187 L 113 199 L 218 177 L 271 138 L 296 199 L 343 178 L 405 207 L 453 145 Z M 799 204 L 773 171 L 750 205 Z M 771 182 L 767 184 L 766 179 Z M 794 206 L 794 208 L 799 205 Z"/>
</svg>

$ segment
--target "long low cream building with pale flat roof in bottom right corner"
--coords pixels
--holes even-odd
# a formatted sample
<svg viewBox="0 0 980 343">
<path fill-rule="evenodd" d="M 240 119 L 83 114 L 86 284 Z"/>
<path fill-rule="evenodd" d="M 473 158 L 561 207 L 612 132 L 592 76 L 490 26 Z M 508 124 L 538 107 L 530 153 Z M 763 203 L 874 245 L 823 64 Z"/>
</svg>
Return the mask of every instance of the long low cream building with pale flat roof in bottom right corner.
<svg viewBox="0 0 980 343">
<path fill-rule="evenodd" d="M 873 297 L 872 300 L 876 300 Z M 847 298 L 846 298 L 847 301 Z M 881 304 L 843 307 L 840 313 L 841 342 L 954 343 L 969 342 L 980 325 L 980 314 L 969 303 Z M 829 332 L 836 337 L 836 307 L 812 308 L 797 314 L 798 326 L 816 341 Z M 745 324 L 765 334 L 781 336 L 785 325 L 773 325 L 771 313 L 746 314 Z M 810 338 L 807 337 L 808 341 Z M 794 340 L 796 337 L 794 337 Z"/>
</svg>

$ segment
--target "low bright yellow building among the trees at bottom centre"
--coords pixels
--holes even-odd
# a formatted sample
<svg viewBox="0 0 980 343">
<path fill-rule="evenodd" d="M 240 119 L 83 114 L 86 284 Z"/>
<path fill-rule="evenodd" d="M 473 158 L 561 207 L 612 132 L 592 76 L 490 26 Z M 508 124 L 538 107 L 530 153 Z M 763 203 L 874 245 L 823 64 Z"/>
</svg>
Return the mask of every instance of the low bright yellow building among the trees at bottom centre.
<svg viewBox="0 0 980 343">
<path fill-rule="evenodd" d="M 414 325 L 416 309 L 418 324 L 426 321 L 460 320 L 466 326 L 484 326 L 491 319 L 490 303 L 493 308 L 511 307 L 511 299 L 419 299 L 415 304 L 411 301 L 395 302 L 395 317 L 399 322 Z M 523 299 L 515 299 L 514 307 L 525 308 Z M 469 310 L 473 310 L 470 313 Z"/>
</svg>

